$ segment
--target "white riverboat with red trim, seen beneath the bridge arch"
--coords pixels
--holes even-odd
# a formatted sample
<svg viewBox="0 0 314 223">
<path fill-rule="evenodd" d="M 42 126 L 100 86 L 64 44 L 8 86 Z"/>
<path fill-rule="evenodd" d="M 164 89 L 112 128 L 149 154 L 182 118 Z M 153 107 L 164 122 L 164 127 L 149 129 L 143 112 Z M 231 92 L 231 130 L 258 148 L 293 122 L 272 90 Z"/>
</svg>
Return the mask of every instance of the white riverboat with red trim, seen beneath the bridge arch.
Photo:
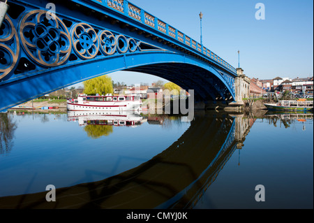
<svg viewBox="0 0 314 223">
<path fill-rule="evenodd" d="M 81 94 L 77 99 L 68 99 L 68 110 L 80 111 L 124 111 L 140 110 L 142 101 L 137 95 L 114 96 L 106 94 L 105 96 L 89 96 Z"/>
</svg>

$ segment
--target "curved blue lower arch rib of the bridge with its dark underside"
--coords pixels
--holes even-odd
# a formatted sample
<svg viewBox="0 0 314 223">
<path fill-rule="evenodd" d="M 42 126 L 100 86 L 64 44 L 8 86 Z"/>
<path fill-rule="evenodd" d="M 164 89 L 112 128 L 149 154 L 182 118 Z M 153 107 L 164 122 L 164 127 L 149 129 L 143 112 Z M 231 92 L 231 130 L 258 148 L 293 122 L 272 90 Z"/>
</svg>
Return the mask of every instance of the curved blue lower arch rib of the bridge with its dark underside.
<svg viewBox="0 0 314 223">
<path fill-rule="evenodd" d="M 1 86 L 0 110 L 84 80 L 124 70 L 149 73 L 170 80 L 186 90 L 194 89 L 196 100 L 234 98 L 230 85 L 213 66 L 177 52 L 153 50 L 101 57 L 80 64 L 70 62 L 55 69 L 33 73 L 28 78 L 6 80 Z M 191 73 L 194 75 L 189 77 Z"/>
</svg>

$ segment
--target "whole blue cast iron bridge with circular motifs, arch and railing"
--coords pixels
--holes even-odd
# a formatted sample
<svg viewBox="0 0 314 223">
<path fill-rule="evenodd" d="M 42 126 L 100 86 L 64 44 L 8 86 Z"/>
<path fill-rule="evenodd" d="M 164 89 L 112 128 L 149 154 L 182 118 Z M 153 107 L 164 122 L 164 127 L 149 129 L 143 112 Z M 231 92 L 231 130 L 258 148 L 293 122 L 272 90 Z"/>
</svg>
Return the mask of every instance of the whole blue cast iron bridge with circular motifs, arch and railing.
<svg viewBox="0 0 314 223">
<path fill-rule="evenodd" d="M 0 29 L 0 110 L 114 71 L 165 78 L 193 89 L 195 101 L 234 101 L 234 67 L 133 3 L 50 2 L 8 1 Z"/>
</svg>

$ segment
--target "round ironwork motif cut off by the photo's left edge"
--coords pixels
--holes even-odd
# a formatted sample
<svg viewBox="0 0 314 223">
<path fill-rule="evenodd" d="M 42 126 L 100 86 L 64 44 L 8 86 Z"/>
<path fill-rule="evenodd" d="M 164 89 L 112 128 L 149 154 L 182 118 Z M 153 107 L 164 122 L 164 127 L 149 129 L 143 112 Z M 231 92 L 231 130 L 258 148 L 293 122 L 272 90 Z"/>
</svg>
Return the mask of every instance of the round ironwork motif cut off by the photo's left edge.
<svg viewBox="0 0 314 223">
<path fill-rule="evenodd" d="M 6 15 L 0 29 L 0 80 L 5 78 L 17 64 L 20 55 L 20 41 L 17 31 Z"/>
</svg>

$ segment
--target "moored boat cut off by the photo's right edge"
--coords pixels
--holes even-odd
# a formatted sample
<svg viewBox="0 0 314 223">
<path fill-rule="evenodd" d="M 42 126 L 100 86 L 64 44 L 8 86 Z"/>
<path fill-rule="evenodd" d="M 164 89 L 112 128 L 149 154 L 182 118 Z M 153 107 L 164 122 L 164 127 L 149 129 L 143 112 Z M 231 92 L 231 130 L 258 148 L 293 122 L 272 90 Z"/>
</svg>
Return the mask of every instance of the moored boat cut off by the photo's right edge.
<svg viewBox="0 0 314 223">
<path fill-rule="evenodd" d="M 268 110 L 309 111 L 313 110 L 313 101 L 278 101 L 277 103 L 264 103 Z"/>
</svg>

